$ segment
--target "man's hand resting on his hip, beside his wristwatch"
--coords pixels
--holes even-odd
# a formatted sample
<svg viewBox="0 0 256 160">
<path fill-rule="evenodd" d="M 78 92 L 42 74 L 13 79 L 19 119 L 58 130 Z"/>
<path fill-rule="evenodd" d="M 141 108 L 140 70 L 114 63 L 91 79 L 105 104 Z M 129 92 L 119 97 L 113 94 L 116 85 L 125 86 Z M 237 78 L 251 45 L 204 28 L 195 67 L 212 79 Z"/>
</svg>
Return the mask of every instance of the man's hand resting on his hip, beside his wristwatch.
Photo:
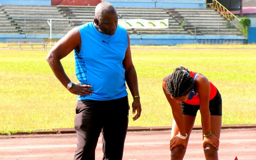
<svg viewBox="0 0 256 160">
<path fill-rule="evenodd" d="M 92 88 L 92 86 L 88 85 L 88 84 L 82 85 L 80 83 L 76 83 L 76 84 L 73 83 L 72 87 L 69 88 L 69 91 L 73 94 L 86 97 L 86 94 L 92 95 L 92 93 L 93 93 L 93 90 L 90 90 L 89 88 Z"/>
</svg>

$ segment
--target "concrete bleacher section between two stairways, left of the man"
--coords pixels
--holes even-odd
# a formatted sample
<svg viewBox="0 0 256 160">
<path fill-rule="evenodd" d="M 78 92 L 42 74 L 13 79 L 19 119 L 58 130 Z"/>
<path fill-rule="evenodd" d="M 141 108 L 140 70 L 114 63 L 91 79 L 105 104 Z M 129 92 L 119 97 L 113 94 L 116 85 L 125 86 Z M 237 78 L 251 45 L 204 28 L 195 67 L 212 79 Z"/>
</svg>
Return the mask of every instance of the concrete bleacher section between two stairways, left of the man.
<svg viewBox="0 0 256 160">
<path fill-rule="evenodd" d="M 56 6 L 4 5 L 1 11 L 17 26 L 19 34 L 49 34 L 48 18 L 64 18 Z"/>
</svg>

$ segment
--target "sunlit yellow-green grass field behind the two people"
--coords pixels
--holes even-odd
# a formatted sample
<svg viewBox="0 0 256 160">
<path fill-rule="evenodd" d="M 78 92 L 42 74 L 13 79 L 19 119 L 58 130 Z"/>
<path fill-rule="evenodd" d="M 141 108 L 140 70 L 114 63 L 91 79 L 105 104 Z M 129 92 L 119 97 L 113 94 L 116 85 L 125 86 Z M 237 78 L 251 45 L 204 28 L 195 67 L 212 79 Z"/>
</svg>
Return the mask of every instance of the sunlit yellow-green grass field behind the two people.
<svg viewBox="0 0 256 160">
<path fill-rule="evenodd" d="M 6 44 L 0 43 L 1 47 L 0 130 L 73 128 L 76 95 L 52 73 L 46 62 L 49 50 L 5 50 Z M 256 124 L 255 44 L 132 46 L 132 58 L 142 114 L 133 121 L 130 110 L 129 126 L 172 125 L 162 79 L 180 65 L 204 74 L 217 86 L 223 99 L 222 124 Z M 69 54 L 62 64 L 70 79 L 78 82 L 74 55 Z M 201 125 L 200 112 L 195 125 Z"/>
</svg>

